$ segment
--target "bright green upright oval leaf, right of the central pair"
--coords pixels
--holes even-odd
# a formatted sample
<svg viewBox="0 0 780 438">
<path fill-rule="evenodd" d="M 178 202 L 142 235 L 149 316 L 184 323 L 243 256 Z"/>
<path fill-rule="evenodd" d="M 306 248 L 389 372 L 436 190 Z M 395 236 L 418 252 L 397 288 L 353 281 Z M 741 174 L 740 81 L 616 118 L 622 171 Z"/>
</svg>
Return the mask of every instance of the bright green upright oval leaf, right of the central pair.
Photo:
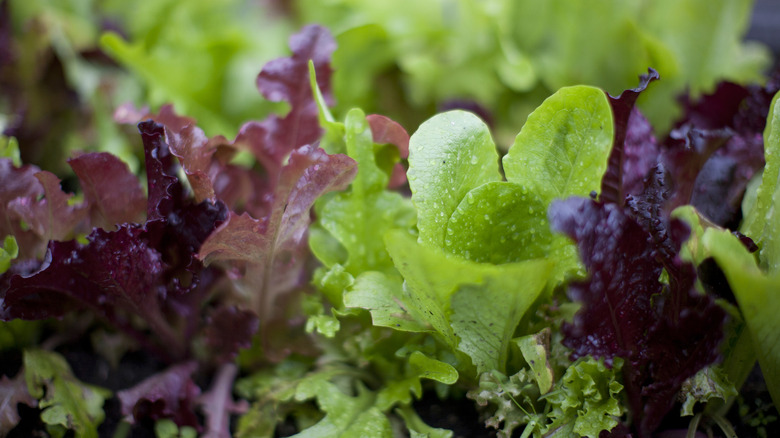
<svg viewBox="0 0 780 438">
<path fill-rule="evenodd" d="M 528 116 L 504 156 L 508 181 L 553 199 L 599 191 L 612 148 L 607 95 L 588 86 L 561 88 Z"/>
</svg>

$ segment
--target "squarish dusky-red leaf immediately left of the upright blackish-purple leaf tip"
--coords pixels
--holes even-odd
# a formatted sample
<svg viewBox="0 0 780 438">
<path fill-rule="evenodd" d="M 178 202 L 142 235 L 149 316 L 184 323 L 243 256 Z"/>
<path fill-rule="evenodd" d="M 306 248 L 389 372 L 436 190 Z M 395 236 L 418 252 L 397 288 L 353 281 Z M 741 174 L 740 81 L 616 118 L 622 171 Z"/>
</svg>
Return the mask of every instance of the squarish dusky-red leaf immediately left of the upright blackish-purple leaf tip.
<svg viewBox="0 0 780 438">
<path fill-rule="evenodd" d="M 140 223 L 146 213 L 146 195 L 127 164 L 105 152 L 81 154 L 68 160 L 89 205 L 90 225 L 113 229 L 122 223 Z"/>
</svg>

